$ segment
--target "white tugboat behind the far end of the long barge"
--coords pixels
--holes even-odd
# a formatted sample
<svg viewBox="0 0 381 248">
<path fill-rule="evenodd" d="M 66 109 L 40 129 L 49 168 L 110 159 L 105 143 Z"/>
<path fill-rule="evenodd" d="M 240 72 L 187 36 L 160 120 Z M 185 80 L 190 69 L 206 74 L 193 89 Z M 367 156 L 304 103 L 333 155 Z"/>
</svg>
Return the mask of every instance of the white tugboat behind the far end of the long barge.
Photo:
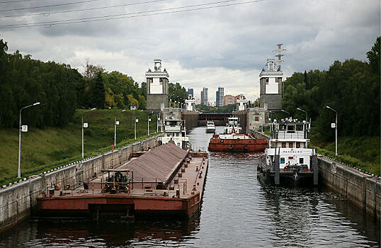
<svg viewBox="0 0 381 248">
<path fill-rule="evenodd" d="M 183 150 L 191 149 L 189 137 L 186 136 L 184 120 L 164 120 L 164 132 L 159 137 L 159 144 L 164 145 L 168 142 L 174 142 L 175 145 Z"/>
</svg>

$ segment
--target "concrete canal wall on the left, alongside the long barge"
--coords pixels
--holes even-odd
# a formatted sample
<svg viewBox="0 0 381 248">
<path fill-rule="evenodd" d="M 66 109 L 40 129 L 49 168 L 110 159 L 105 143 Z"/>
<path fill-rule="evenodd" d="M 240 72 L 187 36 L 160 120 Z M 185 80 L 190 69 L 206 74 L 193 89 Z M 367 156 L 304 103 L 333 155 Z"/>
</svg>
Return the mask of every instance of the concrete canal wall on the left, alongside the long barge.
<svg viewBox="0 0 381 248">
<path fill-rule="evenodd" d="M 157 147 L 157 137 L 45 171 L 37 176 L 30 176 L 25 181 L 2 188 L 0 190 L 0 232 L 30 216 L 37 205 L 36 198 L 43 189 L 48 191 L 49 188 L 54 188 L 54 184 L 69 185 L 73 188 L 76 184 L 88 181 L 99 174 L 101 169 L 127 162 L 132 152 L 147 150 L 148 147 Z"/>
</svg>

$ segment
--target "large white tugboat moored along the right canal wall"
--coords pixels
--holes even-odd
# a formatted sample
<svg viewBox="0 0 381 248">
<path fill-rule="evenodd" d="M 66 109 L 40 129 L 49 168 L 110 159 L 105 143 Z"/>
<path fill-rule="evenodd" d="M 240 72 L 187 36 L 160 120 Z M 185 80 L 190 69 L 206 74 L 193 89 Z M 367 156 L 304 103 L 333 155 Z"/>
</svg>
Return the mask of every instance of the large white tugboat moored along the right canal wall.
<svg viewBox="0 0 381 248">
<path fill-rule="evenodd" d="M 258 176 L 271 179 L 275 185 L 318 183 L 316 152 L 308 148 L 310 123 L 292 118 L 276 120 L 270 125 L 270 142 L 258 162 Z"/>
</svg>

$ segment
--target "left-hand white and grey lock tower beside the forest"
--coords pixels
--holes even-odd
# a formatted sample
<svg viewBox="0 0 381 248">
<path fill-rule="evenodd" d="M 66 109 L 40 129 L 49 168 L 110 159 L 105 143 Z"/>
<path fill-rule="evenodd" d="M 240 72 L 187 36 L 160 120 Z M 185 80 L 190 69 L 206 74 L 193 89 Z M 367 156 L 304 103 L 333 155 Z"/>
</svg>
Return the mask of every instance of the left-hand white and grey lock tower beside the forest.
<svg viewBox="0 0 381 248">
<path fill-rule="evenodd" d="M 161 71 L 161 60 L 154 60 L 154 70 L 148 69 L 147 79 L 147 110 L 160 111 L 169 107 L 169 74 L 164 68 Z"/>
</svg>

